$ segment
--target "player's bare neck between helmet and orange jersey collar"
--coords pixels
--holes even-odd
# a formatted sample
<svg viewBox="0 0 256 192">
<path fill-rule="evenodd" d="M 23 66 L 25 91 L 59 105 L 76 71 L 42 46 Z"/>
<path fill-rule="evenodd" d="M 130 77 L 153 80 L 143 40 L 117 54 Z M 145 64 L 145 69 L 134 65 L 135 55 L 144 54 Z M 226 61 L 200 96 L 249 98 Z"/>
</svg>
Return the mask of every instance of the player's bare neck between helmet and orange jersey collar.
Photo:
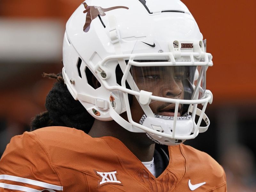
<svg viewBox="0 0 256 192">
<path fill-rule="evenodd" d="M 124 129 L 115 121 L 99 121 L 95 119 L 90 132 L 91 137 L 112 136 L 119 139 L 142 162 L 153 159 L 155 143 L 146 133 L 134 133 Z"/>
</svg>

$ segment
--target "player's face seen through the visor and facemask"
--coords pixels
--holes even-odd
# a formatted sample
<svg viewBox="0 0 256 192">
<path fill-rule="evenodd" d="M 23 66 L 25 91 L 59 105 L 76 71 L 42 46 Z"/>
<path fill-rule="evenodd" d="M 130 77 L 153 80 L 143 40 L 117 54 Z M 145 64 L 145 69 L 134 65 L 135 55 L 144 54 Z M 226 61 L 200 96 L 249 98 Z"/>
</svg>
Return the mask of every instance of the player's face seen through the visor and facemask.
<svg viewBox="0 0 256 192">
<path fill-rule="evenodd" d="M 155 96 L 172 99 L 184 99 L 183 82 L 186 76 L 185 73 L 184 67 L 168 66 L 132 68 L 132 76 L 139 90 L 152 92 L 152 95 Z M 134 102 L 131 107 L 133 114 L 132 118 L 136 118 L 137 121 L 138 117 L 141 118 L 144 112 L 139 110 L 141 107 L 136 98 L 134 98 L 133 101 Z M 162 116 L 174 116 L 175 103 L 151 100 L 149 107 L 155 114 Z M 180 104 L 178 116 L 181 116 L 181 112 L 182 105 Z"/>
</svg>

